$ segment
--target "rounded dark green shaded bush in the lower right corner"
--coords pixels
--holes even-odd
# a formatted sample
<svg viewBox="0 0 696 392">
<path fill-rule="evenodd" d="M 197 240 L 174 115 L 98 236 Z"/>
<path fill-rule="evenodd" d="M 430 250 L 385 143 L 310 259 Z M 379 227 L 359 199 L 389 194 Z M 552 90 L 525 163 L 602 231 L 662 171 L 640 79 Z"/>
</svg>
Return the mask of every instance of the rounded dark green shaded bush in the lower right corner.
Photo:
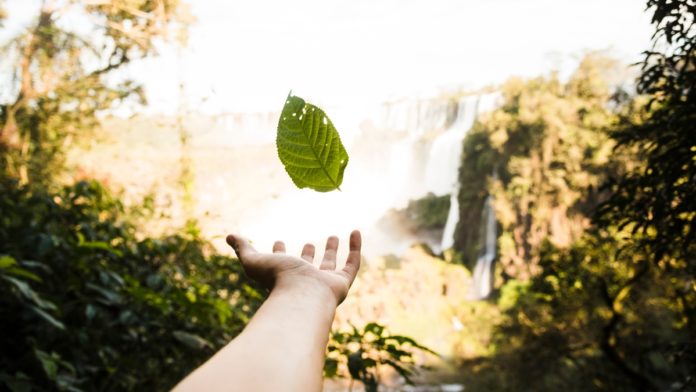
<svg viewBox="0 0 696 392">
<path fill-rule="evenodd" d="M 694 332 L 685 305 L 694 296 L 675 300 L 681 287 L 674 277 L 621 234 L 598 230 L 568 249 L 543 245 L 542 272 L 501 289 L 495 352 L 469 389 L 693 389 Z"/>
</svg>

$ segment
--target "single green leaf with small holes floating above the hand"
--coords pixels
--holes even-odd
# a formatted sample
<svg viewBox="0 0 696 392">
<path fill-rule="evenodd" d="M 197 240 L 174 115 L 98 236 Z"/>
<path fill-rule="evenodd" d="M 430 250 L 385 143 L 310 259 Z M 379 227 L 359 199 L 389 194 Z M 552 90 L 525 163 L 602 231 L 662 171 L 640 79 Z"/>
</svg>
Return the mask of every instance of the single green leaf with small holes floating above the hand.
<svg viewBox="0 0 696 392">
<path fill-rule="evenodd" d="M 290 93 L 278 121 L 276 146 L 298 188 L 340 190 L 348 153 L 323 110 Z"/>
</svg>

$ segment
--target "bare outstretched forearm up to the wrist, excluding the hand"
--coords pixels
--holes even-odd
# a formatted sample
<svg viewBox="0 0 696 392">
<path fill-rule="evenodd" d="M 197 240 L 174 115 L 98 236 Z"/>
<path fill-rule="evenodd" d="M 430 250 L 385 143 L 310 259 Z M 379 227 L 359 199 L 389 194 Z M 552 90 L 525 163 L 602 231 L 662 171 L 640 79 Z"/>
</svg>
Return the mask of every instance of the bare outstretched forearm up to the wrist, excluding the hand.
<svg viewBox="0 0 696 392">
<path fill-rule="evenodd" d="M 319 391 L 335 310 L 321 285 L 278 282 L 244 331 L 176 389 Z"/>
</svg>

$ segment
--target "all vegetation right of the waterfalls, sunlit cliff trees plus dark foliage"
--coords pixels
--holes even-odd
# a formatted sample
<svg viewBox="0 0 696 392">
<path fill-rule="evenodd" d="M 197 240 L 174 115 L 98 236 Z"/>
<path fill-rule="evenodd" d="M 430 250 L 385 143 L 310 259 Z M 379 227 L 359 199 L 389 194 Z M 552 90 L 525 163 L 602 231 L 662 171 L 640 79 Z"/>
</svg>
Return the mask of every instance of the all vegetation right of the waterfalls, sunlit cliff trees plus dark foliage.
<svg viewBox="0 0 696 392">
<path fill-rule="evenodd" d="M 465 141 L 462 216 L 492 195 L 501 229 L 503 319 L 465 364 L 474 389 L 696 388 L 696 7 L 648 7 L 637 95 L 590 57 L 565 84 L 509 82 Z M 469 265 L 480 236 L 459 228 Z"/>
</svg>

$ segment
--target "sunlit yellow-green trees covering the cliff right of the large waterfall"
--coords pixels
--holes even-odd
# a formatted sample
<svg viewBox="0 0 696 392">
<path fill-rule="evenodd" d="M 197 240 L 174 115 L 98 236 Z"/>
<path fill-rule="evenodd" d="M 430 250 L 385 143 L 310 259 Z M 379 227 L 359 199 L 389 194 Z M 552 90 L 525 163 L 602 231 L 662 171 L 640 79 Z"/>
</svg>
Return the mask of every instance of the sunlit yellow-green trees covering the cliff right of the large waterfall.
<svg viewBox="0 0 696 392">
<path fill-rule="evenodd" d="M 502 106 L 484 115 L 464 141 L 460 167 L 460 219 L 455 247 L 473 263 L 482 243 L 478 225 L 492 195 L 501 227 L 499 263 L 507 278 L 539 272 L 539 250 L 550 240 L 569 246 L 589 226 L 608 170 L 612 143 L 604 74 L 615 62 L 587 56 L 567 83 L 555 75 L 513 79 Z"/>
</svg>

